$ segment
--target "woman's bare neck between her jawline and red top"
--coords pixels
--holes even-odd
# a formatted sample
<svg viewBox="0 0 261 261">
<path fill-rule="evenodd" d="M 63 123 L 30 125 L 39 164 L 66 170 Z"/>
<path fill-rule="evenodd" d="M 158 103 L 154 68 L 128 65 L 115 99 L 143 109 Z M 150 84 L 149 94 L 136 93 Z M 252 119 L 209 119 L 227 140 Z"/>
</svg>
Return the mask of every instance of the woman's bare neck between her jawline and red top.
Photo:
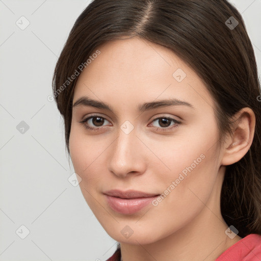
<svg viewBox="0 0 261 261">
<path fill-rule="evenodd" d="M 204 209 L 203 212 L 210 212 Z M 121 243 L 123 261 L 132 260 L 178 260 L 178 261 L 213 261 L 225 250 L 241 238 L 236 236 L 230 239 L 225 230 L 227 225 L 221 217 L 216 217 L 218 222 L 214 225 L 209 215 L 205 223 L 195 222 L 186 228 L 171 234 L 169 237 L 148 245 L 129 245 Z M 219 220 L 221 219 L 221 220 Z"/>
</svg>

